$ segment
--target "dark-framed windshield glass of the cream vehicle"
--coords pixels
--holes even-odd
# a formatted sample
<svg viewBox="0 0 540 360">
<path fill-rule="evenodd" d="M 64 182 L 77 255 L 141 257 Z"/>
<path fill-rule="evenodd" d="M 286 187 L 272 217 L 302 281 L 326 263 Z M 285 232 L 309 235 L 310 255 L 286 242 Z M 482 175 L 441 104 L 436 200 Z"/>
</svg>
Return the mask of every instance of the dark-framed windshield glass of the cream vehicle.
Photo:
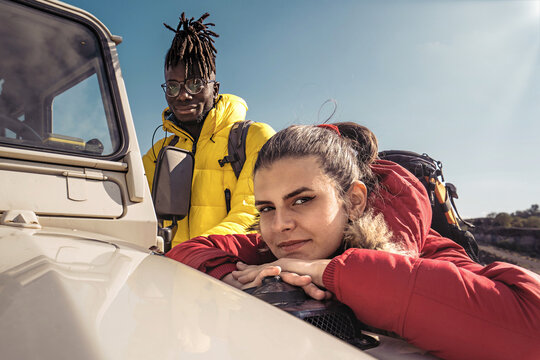
<svg viewBox="0 0 540 360">
<path fill-rule="evenodd" d="M 121 139 L 98 39 L 0 0 L 0 143 L 108 156 Z"/>
</svg>

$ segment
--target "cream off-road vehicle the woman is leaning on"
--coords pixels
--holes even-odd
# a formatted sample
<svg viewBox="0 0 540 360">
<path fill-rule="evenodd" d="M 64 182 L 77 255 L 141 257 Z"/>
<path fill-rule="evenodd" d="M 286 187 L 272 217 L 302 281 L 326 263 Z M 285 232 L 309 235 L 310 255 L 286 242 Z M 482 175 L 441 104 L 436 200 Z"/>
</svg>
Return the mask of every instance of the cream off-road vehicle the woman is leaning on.
<svg viewBox="0 0 540 360">
<path fill-rule="evenodd" d="M 164 158 L 155 209 L 120 41 L 70 5 L 0 0 L 0 357 L 424 357 L 373 334 L 360 350 L 159 255 L 190 158 Z M 160 203 L 171 187 L 180 204 Z"/>
</svg>

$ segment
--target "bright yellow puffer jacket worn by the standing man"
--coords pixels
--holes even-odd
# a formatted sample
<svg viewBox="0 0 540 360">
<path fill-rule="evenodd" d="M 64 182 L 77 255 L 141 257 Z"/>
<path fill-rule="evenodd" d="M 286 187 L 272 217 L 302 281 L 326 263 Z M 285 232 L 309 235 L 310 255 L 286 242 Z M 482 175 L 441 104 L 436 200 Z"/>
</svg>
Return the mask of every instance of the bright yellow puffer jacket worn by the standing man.
<svg viewBox="0 0 540 360">
<path fill-rule="evenodd" d="M 245 101 L 235 95 L 222 94 L 216 106 L 206 116 L 195 147 L 191 135 L 165 119 L 168 110 L 169 108 L 166 108 L 162 114 L 163 128 L 173 135 L 158 141 L 153 149 L 143 156 L 143 163 L 148 184 L 152 189 L 156 156 L 162 147 L 168 145 L 177 135 L 179 140 L 176 147 L 189 151 L 195 149 L 189 216 L 178 222 L 173 246 L 200 235 L 245 233 L 253 224 L 256 214 L 253 166 L 260 148 L 275 133 L 274 130 L 263 123 L 251 124 L 246 139 L 246 162 L 236 179 L 231 164 L 221 167 L 218 160 L 227 155 L 232 125 L 245 120 Z M 231 210 L 228 214 L 226 189 L 231 192 Z"/>
</svg>

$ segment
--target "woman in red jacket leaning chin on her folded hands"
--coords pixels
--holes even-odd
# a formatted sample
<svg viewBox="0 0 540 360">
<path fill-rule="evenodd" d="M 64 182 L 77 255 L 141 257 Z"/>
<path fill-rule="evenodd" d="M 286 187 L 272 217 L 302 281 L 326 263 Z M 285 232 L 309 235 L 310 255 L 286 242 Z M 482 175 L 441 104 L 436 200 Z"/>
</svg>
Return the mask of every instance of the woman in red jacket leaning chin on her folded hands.
<svg viewBox="0 0 540 360">
<path fill-rule="evenodd" d="M 259 232 L 198 237 L 167 256 L 238 288 L 280 275 L 443 358 L 539 359 L 540 277 L 482 266 L 430 228 L 423 185 L 377 159 L 367 128 L 291 126 L 254 168 Z"/>
</svg>

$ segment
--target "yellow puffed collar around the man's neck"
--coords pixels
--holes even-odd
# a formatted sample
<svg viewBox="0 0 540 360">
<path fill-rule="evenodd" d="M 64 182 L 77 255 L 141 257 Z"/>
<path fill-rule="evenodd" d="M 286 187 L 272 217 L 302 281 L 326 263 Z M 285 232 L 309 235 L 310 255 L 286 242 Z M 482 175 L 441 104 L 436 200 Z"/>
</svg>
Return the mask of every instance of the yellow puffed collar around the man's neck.
<svg viewBox="0 0 540 360">
<path fill-rule="evenodd" d="M 209 139 L 228 125 L 244 120 L 246 118 L 247 109 L 247 104 L 244 99 L 231 94 L 220 95 L 218 101 L 204 119 L 199 140 Z M 187 131 L 168 119 L 170 114 L 171 112 L 168 107 L 163 110 L 163 113 L 161 114 L 163 128 L 175 135 L 188 136 L 193 139 Z"/>
</svg>

